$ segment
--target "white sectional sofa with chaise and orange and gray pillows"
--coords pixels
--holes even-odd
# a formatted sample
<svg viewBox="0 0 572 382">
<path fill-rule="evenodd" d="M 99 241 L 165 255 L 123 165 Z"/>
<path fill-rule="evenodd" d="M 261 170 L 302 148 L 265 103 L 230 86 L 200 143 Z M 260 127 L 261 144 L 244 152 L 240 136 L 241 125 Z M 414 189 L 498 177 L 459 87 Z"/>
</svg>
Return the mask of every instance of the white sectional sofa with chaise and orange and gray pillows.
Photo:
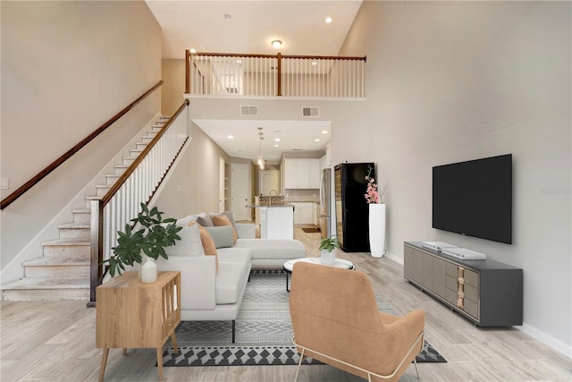
<svg viewBox="0 0 572 382">
<path fill-rule="evenodd" d="M 178 221 L 181 241 L 166 249 L 169 259 L 158 259 L 157 268 L 181 272 L 181 320 L 231 320 L 234 343 L 251 268 L 282 268 L 289 259 L 306 257 L 306 250 L 297 240 L 255 239 L 255 225 L 235 224 L 236 243 L 206 256 L 199 227 L 189 226 L 188 217 Z"/>
</svg>

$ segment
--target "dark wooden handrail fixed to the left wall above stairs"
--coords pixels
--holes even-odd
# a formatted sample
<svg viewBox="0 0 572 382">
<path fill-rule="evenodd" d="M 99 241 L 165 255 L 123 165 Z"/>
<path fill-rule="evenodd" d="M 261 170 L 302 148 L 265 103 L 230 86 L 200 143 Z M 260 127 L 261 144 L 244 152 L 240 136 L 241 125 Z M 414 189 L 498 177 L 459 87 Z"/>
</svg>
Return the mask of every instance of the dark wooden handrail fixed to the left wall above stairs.
<svg viewBox="0 0 572 382">
<path fill-rule="evenodd" d="M 101 134 L 102 132 L 105 132 L 105 130 L 109 126 L 111 126 L 114 122 L 116 122 L 118 119 L 120 119 L 123 115 L 126 115 L 134 106 L 139 104 L 139 102 L 141 100 L 146 98 L 154 90 L 156 90 L 161 85 L 163 85 L 163 82 L 164 82 L 163 80 L 158 81 L 153 88 L 148 89 L 141 97 L 139 97 L 136 100 L 134 100 L 133 102 L 131 102 L 128 106 L 125 106 L 125 108 L 123 108 L 122 111 L 120 111 L 119 113 L 117 113 L 116 115 L 111 117 L 107 122 L 105 122 L 104 124 L 99 126 L 99 128 L 97 128 L 96 131 L 92 132 L 86 138 L 81 140 L 80 143 L 78 143 L 77 145 L 75 145 L 74 147 L 69 149 L 65 154 L 63 154 L 62 157 L 58 157 L 57 159 L 55 159 L 54 162 L 52 162 L 49 166 L 47 166 L 42 171 L 40 171 L 38 174 L 36 174 L 28 182 L 22 184 L 18 190 L 13 191 L 13 193 L 11 193 L 6 198 L 4 198 L 2 201 L 0 201 L 0 209 L 4 209 L 4 208 L 10 206 L 16 199 L 20 198 L 24 193 L 26 193 L 27 191 L 29 191 L 29 189 L 31 189 L 36 184 L 38 184 L 48 174 L 52 173 L 57 167 L 61 166 L 63 164 L 63 162 L 65 162 L 71 156 L 73 156 L 75 153 L 80 151 L 80 149 L 83 149 L 86 145 L 88 145 L 88 143 L 90 141 L 94 140 L 97 137 L 97 135 Z"/>
</svg>

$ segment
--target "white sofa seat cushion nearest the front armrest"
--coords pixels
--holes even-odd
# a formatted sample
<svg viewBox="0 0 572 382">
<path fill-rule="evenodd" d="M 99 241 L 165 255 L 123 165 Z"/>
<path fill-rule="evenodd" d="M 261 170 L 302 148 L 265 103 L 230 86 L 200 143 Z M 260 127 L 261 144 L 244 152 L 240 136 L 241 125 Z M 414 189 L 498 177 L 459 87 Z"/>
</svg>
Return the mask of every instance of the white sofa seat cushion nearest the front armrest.
<svg viewBox="0 0 572 382">
<path fill-rule="evenodd" d="M 248 264 L 223 262 L 216 274 L 216 304 L 234 304 L 239 301 L 240 291 L 248 280 Z"/>
</svg>

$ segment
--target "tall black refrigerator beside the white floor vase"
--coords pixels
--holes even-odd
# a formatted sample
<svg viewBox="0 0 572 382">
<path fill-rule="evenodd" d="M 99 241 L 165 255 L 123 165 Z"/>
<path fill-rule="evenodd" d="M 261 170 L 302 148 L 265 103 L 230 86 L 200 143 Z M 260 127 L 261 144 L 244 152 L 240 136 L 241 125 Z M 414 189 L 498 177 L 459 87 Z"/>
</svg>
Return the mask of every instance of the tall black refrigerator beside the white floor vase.
<svg viewBox="0 0 572 382">
<path fill-rule="evenodd" d="M 334 167 L 336 233 L 341 250 L 369 252 L 369 206 L 366 175 L 374 163 L 342 163 Z"/>
</svg>

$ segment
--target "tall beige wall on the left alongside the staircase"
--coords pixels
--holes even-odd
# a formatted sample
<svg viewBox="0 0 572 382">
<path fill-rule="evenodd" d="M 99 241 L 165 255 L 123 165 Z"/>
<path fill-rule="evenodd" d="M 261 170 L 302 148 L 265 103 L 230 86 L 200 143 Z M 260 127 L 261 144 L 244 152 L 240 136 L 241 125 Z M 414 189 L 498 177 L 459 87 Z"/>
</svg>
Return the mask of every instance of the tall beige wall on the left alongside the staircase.
<svg viewBox="0 0 572 382">
<path fill-rule="evenodd" d="M 11 186 L 4 198 L 161 79 L 161 30 L 144 2 L 0 6 L 1 176 Z M 159 102 L 120 120 L 2 211 L 3 269 L 156 115 Z"/>
</svg>

